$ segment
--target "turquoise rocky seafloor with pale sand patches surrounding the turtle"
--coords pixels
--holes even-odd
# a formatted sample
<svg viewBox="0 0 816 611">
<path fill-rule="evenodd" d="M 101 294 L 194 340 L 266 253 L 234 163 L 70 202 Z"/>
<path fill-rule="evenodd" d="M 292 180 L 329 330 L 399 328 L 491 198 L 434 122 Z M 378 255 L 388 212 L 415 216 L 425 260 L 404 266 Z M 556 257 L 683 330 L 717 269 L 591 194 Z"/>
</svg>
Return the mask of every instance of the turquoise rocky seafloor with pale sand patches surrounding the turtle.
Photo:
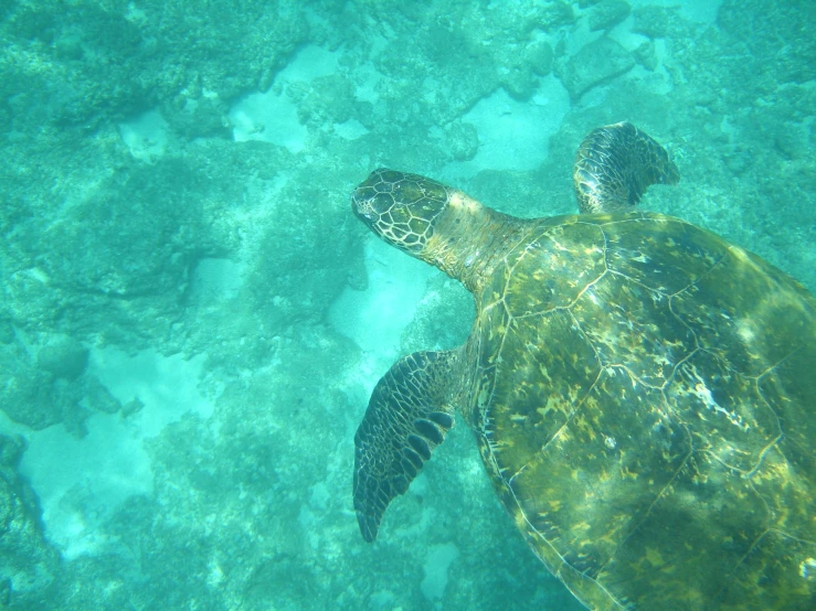
<svg viewBox="0 0 816 611">
<path fill-rule="evenodd" d="M 569 213 L 629 120 L 644 208 L 816 289 L 810 0 L 0 2 L 0 607 L 577 609 L 464 422 L 364 544 L 353 435 L 467 292 L 369 235 L 372 169 Z"/>
</svg>

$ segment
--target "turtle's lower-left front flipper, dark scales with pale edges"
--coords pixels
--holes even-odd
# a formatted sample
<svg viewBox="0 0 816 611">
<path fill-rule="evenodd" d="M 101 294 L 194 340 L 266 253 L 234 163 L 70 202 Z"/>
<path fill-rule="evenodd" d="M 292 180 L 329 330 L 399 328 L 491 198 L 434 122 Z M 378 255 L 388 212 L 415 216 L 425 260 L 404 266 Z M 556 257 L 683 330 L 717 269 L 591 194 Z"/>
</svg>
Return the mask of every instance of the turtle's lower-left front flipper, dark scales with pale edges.
<svg viewBox="0 0 816 611">
<path fill-rule="evenodd" d="M 457 353 L 416 352 L 377 384 L 354 436 L 354 510 L 367 542 L 391 500 L 404 494 L 453 427 L 452 365 Z"/>
</svg>

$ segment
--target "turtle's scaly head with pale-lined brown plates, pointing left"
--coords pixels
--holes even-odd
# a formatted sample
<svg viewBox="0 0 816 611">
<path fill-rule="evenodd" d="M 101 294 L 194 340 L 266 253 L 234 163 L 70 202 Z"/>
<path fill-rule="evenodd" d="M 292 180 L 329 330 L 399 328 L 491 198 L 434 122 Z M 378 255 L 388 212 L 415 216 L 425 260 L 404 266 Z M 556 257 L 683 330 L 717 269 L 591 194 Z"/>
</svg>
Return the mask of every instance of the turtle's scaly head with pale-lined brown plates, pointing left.
<svg viewBox="0 0 816 611">
<path fill-rule="evenodd" d="M 453 190 L 416 174 L 380 168 L 351 194 L 354 214 L 382 239 L 414 257 L 434 235 Z M 433 262 L 433 261 L 430 261 Z"/>
</svg>

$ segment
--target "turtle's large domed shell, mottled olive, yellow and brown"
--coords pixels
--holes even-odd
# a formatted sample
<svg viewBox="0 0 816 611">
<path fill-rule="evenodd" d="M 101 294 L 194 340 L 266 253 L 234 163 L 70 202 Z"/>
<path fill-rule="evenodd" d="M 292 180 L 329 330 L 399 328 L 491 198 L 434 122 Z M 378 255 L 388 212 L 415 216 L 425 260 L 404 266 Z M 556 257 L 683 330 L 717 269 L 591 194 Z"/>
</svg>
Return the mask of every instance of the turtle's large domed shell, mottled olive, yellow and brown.
<svg viewBox="0 0 816 611">
<path fill-rule="evenodd" d="M 531 227 L 466 412 L 534 551 L 591 609 L 816 608 L 813 297 L 659 214 Z"/>
</svg>

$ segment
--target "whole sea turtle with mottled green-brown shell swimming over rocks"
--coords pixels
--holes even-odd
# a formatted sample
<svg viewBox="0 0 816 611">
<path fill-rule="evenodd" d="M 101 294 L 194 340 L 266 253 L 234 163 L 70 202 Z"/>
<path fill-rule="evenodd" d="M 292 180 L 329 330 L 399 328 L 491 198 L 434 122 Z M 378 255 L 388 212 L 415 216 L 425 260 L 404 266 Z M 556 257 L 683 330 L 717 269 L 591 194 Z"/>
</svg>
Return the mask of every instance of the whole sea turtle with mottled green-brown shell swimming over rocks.
<svg viewBox="0 0 816 611">
<path fill-rule="evenodd" d="M 816 300 L 756 255 L 633 211 L 679 180 L 630 124 L 593 131 L 584 214 L 519 219 L 380 169 L 352 207 L 469 289 L 452 351 L 383 376 L 354 438 L 377 537 L 454 424 L 549 570 L 597 610 L 816 609 Z"/>
</svg>

